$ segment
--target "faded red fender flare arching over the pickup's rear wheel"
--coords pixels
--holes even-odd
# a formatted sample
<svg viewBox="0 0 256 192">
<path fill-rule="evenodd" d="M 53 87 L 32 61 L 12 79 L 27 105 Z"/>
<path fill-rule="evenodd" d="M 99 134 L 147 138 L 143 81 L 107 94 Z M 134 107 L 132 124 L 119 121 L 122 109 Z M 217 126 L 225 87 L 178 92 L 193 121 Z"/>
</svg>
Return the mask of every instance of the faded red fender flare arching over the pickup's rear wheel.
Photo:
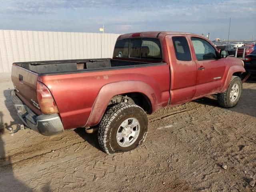
<svg viewBox="0 0 256 192">
<path fill-rule="evenodd" d="M 112 82 L 102 86 L 98 92 L 85 126 L 94 126 L 100 122 L 113 96 L 131 92 L 144 94 L 150 100 L 152 112 L 157 110 L 157 98 L 159 98 L 159 95 L 157 96 L 154 89 L 148 84 L 136 80 Z"/>
</svg>

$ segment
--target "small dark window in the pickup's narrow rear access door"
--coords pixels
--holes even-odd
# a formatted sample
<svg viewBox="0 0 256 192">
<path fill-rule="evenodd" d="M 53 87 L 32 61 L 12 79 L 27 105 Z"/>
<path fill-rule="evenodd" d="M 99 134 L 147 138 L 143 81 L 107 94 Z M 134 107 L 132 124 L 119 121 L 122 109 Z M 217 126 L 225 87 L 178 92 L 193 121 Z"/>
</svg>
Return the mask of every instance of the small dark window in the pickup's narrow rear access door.
<svg viewBox="0 0 256 192">
<path fill-rule="evenodd" d="M 191 53 L 186 37 L 172 37 L 177 60 L 191 61 Z"/>
</svg>

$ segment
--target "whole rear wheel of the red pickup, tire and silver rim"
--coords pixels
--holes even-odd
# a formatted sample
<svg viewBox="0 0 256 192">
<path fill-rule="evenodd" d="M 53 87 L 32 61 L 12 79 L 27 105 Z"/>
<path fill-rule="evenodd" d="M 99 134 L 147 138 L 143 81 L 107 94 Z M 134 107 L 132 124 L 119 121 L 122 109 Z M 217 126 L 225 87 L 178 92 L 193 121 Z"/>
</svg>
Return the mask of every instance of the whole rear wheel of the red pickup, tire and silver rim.
<svg viewBox="0 0 256 192">
<path fill-rule="evenodd" d="M 130 151 L 144 142 L 148 132 L 145 111 L 136 104 L 120 103 L 102 117 L 98 142 L 107 154 Z"/>
</svg>

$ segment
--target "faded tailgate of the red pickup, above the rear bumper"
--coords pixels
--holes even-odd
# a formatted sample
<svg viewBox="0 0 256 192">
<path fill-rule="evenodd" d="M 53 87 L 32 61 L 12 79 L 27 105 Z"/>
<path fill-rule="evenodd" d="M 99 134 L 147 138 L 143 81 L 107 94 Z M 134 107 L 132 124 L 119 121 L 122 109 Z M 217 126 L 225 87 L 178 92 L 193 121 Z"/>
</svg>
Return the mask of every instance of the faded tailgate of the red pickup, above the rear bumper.
<svg viewBox="0 0 256 192">
<path fill-rule="evenodd" d="M 36 97 L 36 83 L 38 74 L 17 66 L 12 65 L 12 83 L 15 88 L 15 94 L 36 114 L 42 112 L 33 105 L 33 102 L 38 103 Z"/>
</svg>

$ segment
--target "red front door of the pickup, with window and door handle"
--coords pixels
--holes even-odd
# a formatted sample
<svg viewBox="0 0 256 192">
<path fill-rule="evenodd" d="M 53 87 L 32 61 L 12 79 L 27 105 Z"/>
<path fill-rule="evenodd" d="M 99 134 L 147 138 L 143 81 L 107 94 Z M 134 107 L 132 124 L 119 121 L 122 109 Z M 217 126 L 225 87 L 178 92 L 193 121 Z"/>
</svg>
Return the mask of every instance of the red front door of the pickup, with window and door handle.
<svg viewBox="0 0 256 192">
<path fill-rule="evenodd" d="M 216 49 L 198 36 L 190 36 L 197 68 L 195 98 L 220 92 L 225 63 L 216 57 Z"/>
</svg>

